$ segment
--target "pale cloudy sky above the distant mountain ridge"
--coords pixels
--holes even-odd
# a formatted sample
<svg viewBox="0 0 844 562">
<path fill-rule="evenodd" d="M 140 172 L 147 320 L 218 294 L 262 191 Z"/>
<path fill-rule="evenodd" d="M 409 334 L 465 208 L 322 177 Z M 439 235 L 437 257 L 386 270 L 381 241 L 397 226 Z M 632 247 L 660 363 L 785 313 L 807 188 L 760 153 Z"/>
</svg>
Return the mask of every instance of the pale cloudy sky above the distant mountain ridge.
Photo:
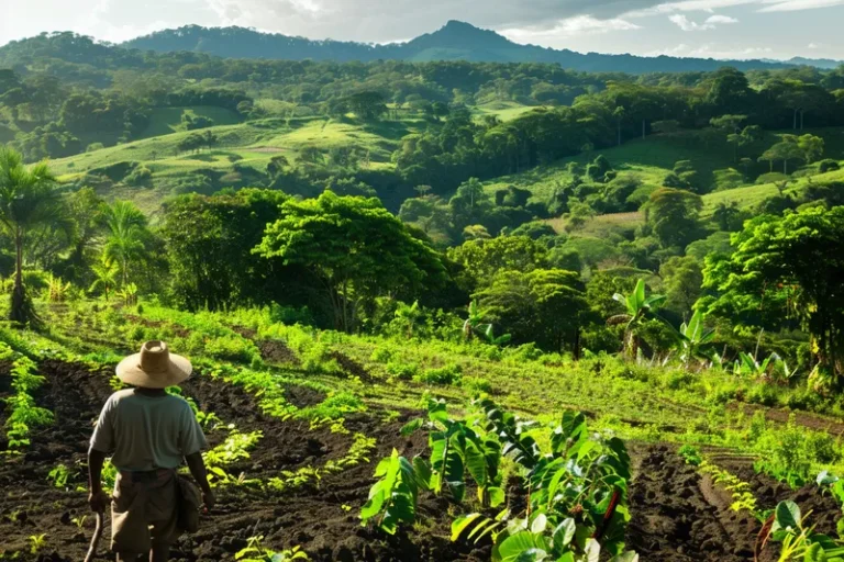
<svg viewBox="0 0 844 562">
<path fill-rule="evenodd" d="M 844 0 L 0 0 L 0 45 L 66 30 L 119 42 L 188 23 L 386 43 L 447 20 L 579 52 L 844 59 Z"/>
</svg>

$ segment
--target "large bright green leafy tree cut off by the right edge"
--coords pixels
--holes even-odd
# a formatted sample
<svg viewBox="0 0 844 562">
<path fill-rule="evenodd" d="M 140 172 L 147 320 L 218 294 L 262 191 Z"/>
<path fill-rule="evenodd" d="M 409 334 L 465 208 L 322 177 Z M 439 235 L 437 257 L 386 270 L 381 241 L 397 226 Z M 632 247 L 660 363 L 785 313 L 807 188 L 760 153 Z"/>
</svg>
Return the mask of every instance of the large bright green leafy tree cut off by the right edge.
<svg viewBox="0 0 844 562">
<path fill-rule="evenodd" d="M 709 314 L 736 326 L 777 329 L 789 319 L 811 335 L 819 382 L 844 374 L 844 207 L 763 215 L 733 235 L 729 258 L 707 261 Z"/>
</svg>

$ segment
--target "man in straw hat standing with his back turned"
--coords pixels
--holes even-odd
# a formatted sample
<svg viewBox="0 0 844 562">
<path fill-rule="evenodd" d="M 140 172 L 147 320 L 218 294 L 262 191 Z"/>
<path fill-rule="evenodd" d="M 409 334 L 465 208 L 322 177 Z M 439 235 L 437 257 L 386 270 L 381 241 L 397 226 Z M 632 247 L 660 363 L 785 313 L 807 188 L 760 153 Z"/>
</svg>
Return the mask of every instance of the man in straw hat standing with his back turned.
<svg viewBox="0 0 844 562">
<path fill-rule="evenodd" d="M 168 559 L 170 544 L 184 530 L 179 507 L 187 504 L 182 499 L 186 484 L 176 473 L 182 459 L 206 507 L 214 505 L 200 453 L 207 446 L 202 428 L 184 398 L 165 392 L 187 380 L 191 371 L 190 361 L 170 353 L 164 341 L 147 341 L 140 353 L 118 366 L 118 378 L 133 387 L 109 397 L 88 451 L 88 502 L 95 513 L 111 503 L 111 550 L 118 562 L 134 562 L 147 552 L 151 562 Z M 108 454 L 118 470 L 111 497 L 101 482 Z M 196 488 L 193 495 L 198 496 Z M 196 515 L 195 505 L 195 519 Z"/>
</svg>

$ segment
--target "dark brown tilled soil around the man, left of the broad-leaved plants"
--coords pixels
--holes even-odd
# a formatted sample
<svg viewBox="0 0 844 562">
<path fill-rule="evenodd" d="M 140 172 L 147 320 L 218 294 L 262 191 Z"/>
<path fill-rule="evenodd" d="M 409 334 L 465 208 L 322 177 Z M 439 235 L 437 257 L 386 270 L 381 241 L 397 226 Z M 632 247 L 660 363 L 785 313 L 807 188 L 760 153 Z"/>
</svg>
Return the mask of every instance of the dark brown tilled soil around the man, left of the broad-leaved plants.
<svg viewBox="0 0 844 562">
<path fill-rule="evenodd" d="M 111 394 L 110 372 L 91 373 L 84 366 L 47 361 L 41 366 L 47 379 L 38 404 L 51 408 L 56 424 L 33 436 L 31 450 L 18 458 L 3 458 L 0 464 L 0 553 L 20 552 L 19 560 L 79 561 L 93 528 L 92 517 L 82 529 L 71 521 L 88 515 L 85 491 L 85 452 L 93 422 Z M 321 467 L 327 460 L 344 457 L 355 432 L 377 439 L 370 462 L 342 473 L 324 476 L 282 494 L 232 486 L 219 488 L 218 506 L 203 517 L 198 533 L 182 537 L 171 558 L 186 561 L 232 560 L 235 552 L 256 535 L 265 537 L 267 548 L 281 550 L 301 546 L 314 561 L 480 561 L 488 550 L 452 543 L 447 502 L 426 498 L 419 507 L 423 532 L 409 530 L 396 537 L 360 526 L 357 514 L 366 502 L 377 461 L 393 448 L 412 457 L 426 448 L 422 435 L 402 438 L 400 419 L 381 425 L 377 415 L 346 418 L 349 434 L 329 429 L 310 430 L 307 420 L 280 422 L 259 414 L 255 398 L 245 391 L 201 374 L 182 385 L 186 396 L 202 409 L 214 412 L 224 424 L 235 424 L 241 431 L 260 429 L 264 438 L 249 459 L 229 465 L 232 474 L 266 481 L 281 471 Z M 293 401 L 312 403 L 319 393 L 298 387 Z M 407 415 L 404 417 L 408 417 Z M 225 431 L 210 431 L 210 443 L 224 440 Z M 70 491 L 57 490 L 47 473 L 58 463 L 76 467 Z M 102 542 L 100 560 L 113 560 L 104 552 L 109 529 Z M 41 554 L 31 554 L 29 537 L 46 533 Z"/>
</svg>

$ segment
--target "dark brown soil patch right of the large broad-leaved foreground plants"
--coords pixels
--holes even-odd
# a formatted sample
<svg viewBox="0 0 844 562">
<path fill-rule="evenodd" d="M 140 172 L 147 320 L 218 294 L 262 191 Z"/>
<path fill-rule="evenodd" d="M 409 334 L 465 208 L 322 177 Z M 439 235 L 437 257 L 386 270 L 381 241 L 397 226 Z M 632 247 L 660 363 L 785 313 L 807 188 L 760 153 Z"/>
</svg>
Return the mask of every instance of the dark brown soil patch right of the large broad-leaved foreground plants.
<svg viewBox="0 0 844 562">
<path fill-rule="evenodd" d="M 754 559 L 762 524 L 747 512 L 730 509 L 732 498 L 701 475 L 667 445 L 632 445 L 635 476 L 630 487 L 631 521 L 628 546 L 648 562 L 747 561 Z M 784 499 L 812 512 L 819 532 L 833 532 L 841 507 L 820 494 L 817 486 L 791 491 L 753 471 L 746 459 L 732 464 L 719 462 L 751 484 L 760 509 L 773 509 Z M 775 548 L 760 560 L 776 560 Z"/>
</svg>

